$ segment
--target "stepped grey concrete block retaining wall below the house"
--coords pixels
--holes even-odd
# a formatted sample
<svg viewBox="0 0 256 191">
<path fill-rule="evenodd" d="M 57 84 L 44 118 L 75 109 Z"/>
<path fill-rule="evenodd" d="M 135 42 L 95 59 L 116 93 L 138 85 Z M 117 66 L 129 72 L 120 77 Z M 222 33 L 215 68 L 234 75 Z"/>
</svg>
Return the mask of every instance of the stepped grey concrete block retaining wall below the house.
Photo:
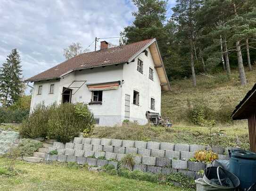
<svg viewBox="0 0 256 191">
<path fill-rule="evenodd" d="M 117 161 L 126 154 L 134 155 L 133 169 L 143 172 L 169 174 L 180 172 L 194 178 L 200 177 L 199 171 L 206 168 L 204 162 L 189 161 L 198 150 L 211 149 L 204 145 L 187 145 L 158 142 L 131 141 L 107 138 L 74 138 L 73 143 L 54 142 L 49 148 L 45 160 L 60 162 L 88 163 L 90 166 L 104 166 L 113 164 L 117 168 Z M 230 149 L 230 148 L 229 148 Z M 58 155 L 50 155 L 50 151 L 57 150 Z M 213 146 L 212 150 L 218 153 L 219 159 L 229 160 L 224 153 L 225 148 Z M 100 159 L 98 159 L 101 157 Z M 105 159 L 106 160 L 105 160 Z"/>
</svg>

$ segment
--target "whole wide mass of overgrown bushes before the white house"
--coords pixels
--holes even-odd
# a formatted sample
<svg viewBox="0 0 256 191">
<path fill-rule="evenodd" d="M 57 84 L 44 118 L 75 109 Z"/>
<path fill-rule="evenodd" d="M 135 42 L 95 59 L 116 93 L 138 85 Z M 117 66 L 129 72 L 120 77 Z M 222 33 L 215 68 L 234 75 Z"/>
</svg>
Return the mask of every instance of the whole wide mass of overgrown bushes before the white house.
<svg viewBox="0 0 256 191">
<path fill-rule="evenodd" d="M 94 117 L 87 105 L 64 103 L 61 105 L 37 105 L 31 116 L 20 128 L 23 138 L 53 138 L 66 143 L 84 132 L 87 136 L 94 127 Z"/>
</svg>

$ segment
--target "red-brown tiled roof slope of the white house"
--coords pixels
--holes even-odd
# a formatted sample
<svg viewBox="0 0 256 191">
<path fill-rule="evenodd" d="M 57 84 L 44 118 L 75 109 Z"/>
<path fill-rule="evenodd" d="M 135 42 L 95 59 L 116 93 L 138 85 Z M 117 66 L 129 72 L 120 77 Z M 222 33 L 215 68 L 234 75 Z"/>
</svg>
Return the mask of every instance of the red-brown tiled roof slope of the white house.
<svg viewBox="0 0 256 191">
<path fill-rule="evenodd" d="M 38 75 L 26 79 L 26 82 L 41 81 L 60 78 L 69 71 L 77 69 L 88 69 L 110 64 L 128 62 L 143 47 L 149 45 L 153 39 L 143 40 L 128 45 L 107 48 L 90 53 L 81 53 L 64 61 L 53 68 L 50 68 Z"/>
</svg>

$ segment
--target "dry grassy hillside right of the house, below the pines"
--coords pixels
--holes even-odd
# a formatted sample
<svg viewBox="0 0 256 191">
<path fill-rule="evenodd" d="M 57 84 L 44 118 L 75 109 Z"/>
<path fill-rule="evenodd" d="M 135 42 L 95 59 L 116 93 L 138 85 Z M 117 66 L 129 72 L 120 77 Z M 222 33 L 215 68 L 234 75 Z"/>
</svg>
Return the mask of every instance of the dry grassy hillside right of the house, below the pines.
<svg viewBox="0 0 256 191">
<path fill-rule="evenodd" d="M 247 69 L 246 69 L 247 70 Z M 256 70 L 246 71 L 248 84 L 241 86 L 239 73 L 233 70 L 231 80 L 225 73 L 197 76 L 197 87 L 192 86 L 191 79 L 173 81 L 171 92 L 162 96 L 162 115 L 168 116 L 174 124 L 191 124 L 189 112 L 195 106 L 204 107 L 207 118 L 216 123 L 233 123 L 231 113 L 235 106 L 256 83 Z"/>
</svg>

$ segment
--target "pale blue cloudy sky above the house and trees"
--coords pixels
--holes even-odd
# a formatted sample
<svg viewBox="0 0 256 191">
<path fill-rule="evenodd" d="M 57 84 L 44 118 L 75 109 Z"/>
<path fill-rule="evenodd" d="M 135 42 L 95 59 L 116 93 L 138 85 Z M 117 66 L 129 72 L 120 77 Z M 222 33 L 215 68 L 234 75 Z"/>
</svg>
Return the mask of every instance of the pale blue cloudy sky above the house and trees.
<svg viewBox="0 0 256 191">
<path fill-rule="evenodd" d="M 36 75 L 64 61 L 63 48 L 73 42 L 86 48 L 95 37 L 119 36 L 135 10 L 130 0 L 1 0 L 0 66 L 17 48 L 24 77 Z"/>
</svg>

